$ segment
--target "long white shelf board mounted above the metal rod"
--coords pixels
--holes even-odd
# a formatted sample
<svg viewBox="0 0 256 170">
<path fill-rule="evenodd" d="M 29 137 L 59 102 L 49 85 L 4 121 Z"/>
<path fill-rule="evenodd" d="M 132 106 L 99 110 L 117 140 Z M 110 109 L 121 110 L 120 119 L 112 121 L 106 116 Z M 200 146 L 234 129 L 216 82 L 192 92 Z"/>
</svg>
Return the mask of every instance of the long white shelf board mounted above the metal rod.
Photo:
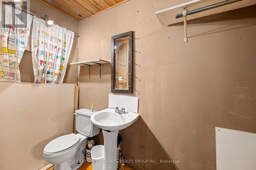
<svg viewBox="0 0 256 170">
<path fill-rule="evenodd" d="M 227 4 L 224 6 L 212 8 L 209 10 L 205 10 L 205 11 L 201 11 L 201 12 L 193 13 L 193 14 L 189 15 L 189 11 L 203 8 L 203 7 L 210 6 L 210 5 L 217 4 L 217 3 L 222 3 L 222 2 L 224 3 L 224 2 L 228 2 L 228 1 L 225 1 L 225 0 L 193 0 L 193 1 L 190 0 L 189 1 L 189 0 L 187 0 L 187 2 L 185 2 L 183 4 L 177 4 L 175 6 L 157 11 L 157 12 L 155 12 L 155 14 L 163 26 L 169 26 L 169 25 L 173 25 L 174 23 L 183 21 L 183 17 L 176 18 L 177 14 L 183 13 L 183 8 L 187 9 L 187 18 L 186 19 L 190 20 L 190 19 L 196 19 L 196 18 L 208 16 L 208 15 L 214 15 L 217 13 L 226 12 L 226 11 L 243 8 L 243 7 L 247 7 L 247 6 L 256 4 L 255 0 L 234 1 L 233 3 Z"/>
</svg>

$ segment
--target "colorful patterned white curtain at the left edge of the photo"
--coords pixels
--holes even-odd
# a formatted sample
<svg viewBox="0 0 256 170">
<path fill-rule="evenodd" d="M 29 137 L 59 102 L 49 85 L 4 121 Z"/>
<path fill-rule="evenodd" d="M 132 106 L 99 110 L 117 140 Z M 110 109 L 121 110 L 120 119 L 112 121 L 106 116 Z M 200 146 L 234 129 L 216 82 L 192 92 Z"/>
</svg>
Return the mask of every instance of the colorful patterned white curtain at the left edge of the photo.
<svg viewBox="0 0 256 170">
<path fill-rule="evenodd" d="M 19 63 L 27 47 L 33 17 L 9 5 L 3 5 L 2 10 L 5 17 L 1 27 L 0 81 L 20 82 Z M 20 18 L 12 23 L 14 10 Z"/>
</svg>

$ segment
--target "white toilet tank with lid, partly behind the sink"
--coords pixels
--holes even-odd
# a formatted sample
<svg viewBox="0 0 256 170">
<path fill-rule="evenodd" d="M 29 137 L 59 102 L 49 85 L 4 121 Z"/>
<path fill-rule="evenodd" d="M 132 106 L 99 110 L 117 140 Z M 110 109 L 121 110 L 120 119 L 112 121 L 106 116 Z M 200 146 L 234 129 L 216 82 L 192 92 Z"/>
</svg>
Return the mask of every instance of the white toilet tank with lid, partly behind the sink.
<svg viewBox="0 0 256 170">
<path fill-rule="evenodd" d="M 76 115 L 76 131 L 84 136 L 93 137 L 99 134 L 99 127 L 91 122 L 92 112 L 90 109 L 78 109 Z"/>
</svg>

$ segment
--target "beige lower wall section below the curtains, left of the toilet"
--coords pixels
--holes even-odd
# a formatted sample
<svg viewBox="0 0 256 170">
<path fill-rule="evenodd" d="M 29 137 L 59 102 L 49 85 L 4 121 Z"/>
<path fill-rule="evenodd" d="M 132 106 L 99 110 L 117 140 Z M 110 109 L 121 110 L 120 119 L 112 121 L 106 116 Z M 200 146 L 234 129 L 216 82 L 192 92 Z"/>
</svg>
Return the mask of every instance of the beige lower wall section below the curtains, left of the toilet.
<svg viewBox="0 0 256 170">
<path fill-rule="evenodd" d="M 2 82 L 0 89 L 0 169 L 39 169 L 46 144 L 72 133 L 75 85 Z"/>
</svg>

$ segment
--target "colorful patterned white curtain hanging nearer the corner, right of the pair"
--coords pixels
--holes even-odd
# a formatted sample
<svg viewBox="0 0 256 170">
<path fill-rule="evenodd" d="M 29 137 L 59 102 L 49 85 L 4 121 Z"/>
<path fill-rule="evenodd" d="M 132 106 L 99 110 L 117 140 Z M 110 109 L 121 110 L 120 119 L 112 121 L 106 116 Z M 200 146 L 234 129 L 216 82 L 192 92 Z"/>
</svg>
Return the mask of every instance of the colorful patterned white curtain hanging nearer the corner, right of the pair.
<svg viewBox="0 0 256 170">
<path fill-rule="evenodd" d="M 58 25 L 47 26 L 34 16 L 32 61 L 35 83 L 63 83 L 74 33 Z"/>
</svg>

